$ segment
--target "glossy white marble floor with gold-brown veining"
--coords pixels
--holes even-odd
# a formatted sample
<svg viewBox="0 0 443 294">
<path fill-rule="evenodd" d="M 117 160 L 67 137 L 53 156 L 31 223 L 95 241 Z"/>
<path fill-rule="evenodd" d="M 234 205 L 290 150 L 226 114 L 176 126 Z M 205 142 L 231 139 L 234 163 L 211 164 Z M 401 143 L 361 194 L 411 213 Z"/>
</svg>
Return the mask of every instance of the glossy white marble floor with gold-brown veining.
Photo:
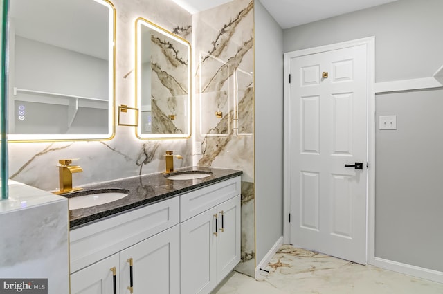
<svg viewBox="0 0 443 294">
<path fill-rule="evenodd" d="M 213 294 L 443 294 L 443 284 L 283 245 L 262 280 L 231 273 Z"/>
</svg>

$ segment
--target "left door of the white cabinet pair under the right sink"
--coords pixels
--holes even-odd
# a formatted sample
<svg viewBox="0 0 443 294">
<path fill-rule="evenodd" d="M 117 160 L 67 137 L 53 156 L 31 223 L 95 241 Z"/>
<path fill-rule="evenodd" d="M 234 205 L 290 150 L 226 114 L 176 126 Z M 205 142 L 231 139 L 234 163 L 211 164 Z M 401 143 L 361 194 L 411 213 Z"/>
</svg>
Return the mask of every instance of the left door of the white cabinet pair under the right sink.
<svg viewBox="0 0 443 294">
<path fill-rule="evenodd" d="M 180 225 L 181 294 L 210 293 L 217 284 L 216 217 L 212 208 Z"/>
</svg>

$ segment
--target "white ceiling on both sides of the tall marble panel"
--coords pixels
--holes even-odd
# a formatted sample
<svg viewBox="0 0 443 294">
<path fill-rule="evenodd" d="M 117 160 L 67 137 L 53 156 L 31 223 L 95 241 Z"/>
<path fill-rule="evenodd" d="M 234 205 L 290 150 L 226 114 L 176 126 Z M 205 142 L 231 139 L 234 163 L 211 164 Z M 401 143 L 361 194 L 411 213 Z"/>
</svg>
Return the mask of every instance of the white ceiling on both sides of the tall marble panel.
<svg viewBox="0 0 443 294">
<path fill-rule="evenodd" d="M 190 13 L 208 10 L 232 0 L 173 0 Z M 282 28 L 379 6 L 397 0 L 260 0 Z"/>
</svg>

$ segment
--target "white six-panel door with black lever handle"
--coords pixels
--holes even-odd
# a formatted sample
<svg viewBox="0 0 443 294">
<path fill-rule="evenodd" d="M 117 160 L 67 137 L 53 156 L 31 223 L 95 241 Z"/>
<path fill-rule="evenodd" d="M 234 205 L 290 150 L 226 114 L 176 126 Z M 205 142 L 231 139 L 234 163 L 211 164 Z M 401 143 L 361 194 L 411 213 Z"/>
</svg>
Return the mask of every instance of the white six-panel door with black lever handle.
<svg viewBox="0 0 443 294">
<path fill-rule="evenodd" d="M 364 45 L 290 59 L 290 242 L 360 264 L 366 263 L 367 66 Z M 362 169 L 345 167 L 355 163 Z"/>
</svg>

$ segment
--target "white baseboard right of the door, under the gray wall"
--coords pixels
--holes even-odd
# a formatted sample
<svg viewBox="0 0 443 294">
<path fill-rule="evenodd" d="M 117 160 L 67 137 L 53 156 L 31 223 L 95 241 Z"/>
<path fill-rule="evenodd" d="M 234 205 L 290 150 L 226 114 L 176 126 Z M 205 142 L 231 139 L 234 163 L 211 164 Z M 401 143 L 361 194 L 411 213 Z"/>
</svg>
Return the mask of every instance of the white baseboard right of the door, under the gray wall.
<svg viewBox="0 0 443 294">
<path fill-rule="evenodd" d="M 411 266 L 410 264 L 402 264 L 401 262 L 387 260 L 379 257 L 375 257 L 374 266 L 384 268 L 386 270 L 392 270 L 405 275 L 412 275 L 413 277 L 419 277 L 422 279 L 428 279 L 434 282 L 443 283 L 443 272 L 439 272 L 437 270 L 420 268 L 419 266 Z"/>
</svg>

